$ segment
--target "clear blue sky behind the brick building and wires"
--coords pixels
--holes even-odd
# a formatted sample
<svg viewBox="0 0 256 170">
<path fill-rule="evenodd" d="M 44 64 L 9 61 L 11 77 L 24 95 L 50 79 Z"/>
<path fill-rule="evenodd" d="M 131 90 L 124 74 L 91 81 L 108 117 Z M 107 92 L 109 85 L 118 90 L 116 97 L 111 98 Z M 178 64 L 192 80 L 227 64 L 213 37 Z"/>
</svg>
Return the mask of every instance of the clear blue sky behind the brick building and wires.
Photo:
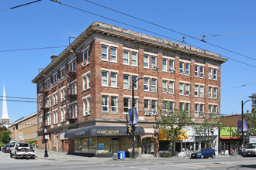
<svg viewBox="0 0 256 170">
<path fill-rule="evenodd" d="M 241 100 L 249 100 L 248 96 L 256 93 L 256 1 L 91 1 L 189 36 L 206 35 L 206 42 L 244 55 L 230 53 L 227 50 L 210 46 L 205 42 L 189 37 L 185 39 L 185 42 L 188 43 L 187 45 L 199 46 L 201 49 L 220 53 L 223 57 L 230 58 L 227 63 L 223 63 L 221 68 L 220 114 L 241 113 Z M 31 81 L 36 77 L 39 69 L 45 68 L 50 63 L 52 54 L 59 55 L 64 50 L 64 47 L 38 48 L 68 46 L 69 36 L 79 36 L 94 21 L 106 22 L 162 39 L 168 39 L 163 37 L 167 36 L 182 41 L 183 37 L 183 35 L 176 32 L 132 19 L 85 0 L 60 0 L 59 2 L 64 5 L 50 0 L 43 0 L 19 8 L 12 8 L 28 2 L 33 2 L 33 0 L 2 0 L 0 6 L 0 109 L 2 110 L 4 83 L 8 100 L 29 101 L 7 101 L 11 122 L 36 112 L 36 100 L 33 100 L 36 99 L 36 84 Z M 119 22 L 82 12 L 67 5 L 93 12 L 97 15 L 104 15 Z M 150 32 L 136 29 L 120 22 L 147 29 Z M 252 33 L 226 35 L 241 32 Z M 159 36 L 159 34 L 162 36 Z M 210 36 L 216 34 L 226 36 Z M 202 37 L 198 39 L 202 39 Z M 13 51 L 12 49 L 29 50 Z M 237 59 L 251 66 L 232 59 Z M 251 102 L 244 104 L 244 110 L 244 112 L 251 110 Z"/>
</svg>

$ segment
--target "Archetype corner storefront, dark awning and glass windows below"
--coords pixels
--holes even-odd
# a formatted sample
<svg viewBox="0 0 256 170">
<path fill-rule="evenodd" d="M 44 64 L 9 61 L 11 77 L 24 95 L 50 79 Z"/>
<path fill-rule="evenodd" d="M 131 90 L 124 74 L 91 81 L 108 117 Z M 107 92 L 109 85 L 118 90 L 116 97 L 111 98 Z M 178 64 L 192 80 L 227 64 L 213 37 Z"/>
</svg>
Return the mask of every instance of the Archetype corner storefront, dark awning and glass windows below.
<svg viewBox="0 0 256 170">
<path fill-rule="evenodd" d="M 132 152 L 132 138 L 126 134 L 126 126 L 87 126 L 69 130 L 65 138 L 74 139 L 74 155 L 112 157 L 118 151 Z M 135 155 L 139 155 L 140 138 L 144 128 L 135 130 Z"/>
</svg>

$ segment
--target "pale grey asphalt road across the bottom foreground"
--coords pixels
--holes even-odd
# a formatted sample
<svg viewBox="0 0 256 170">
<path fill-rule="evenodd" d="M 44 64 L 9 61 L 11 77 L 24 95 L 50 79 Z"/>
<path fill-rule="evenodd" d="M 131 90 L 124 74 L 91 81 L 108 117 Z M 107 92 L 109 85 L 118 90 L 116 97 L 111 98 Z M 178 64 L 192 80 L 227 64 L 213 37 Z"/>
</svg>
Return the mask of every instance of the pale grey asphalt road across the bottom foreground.
<svg viewBox="0 0 256 170">
<path fill-rule="evenodd" d="M 76 159 L 51 160 L 44 158 L 14 159 L 9 153 L 0 152 L 0 169 L 255 169 L 256 157 L 242 158 L 240 156 L 216 156 L 216 158 L 189 159 L 189 158 L 137 158 L 136 160 L 112 160 L 103 158 L 84 157 Z"/>
</svg>

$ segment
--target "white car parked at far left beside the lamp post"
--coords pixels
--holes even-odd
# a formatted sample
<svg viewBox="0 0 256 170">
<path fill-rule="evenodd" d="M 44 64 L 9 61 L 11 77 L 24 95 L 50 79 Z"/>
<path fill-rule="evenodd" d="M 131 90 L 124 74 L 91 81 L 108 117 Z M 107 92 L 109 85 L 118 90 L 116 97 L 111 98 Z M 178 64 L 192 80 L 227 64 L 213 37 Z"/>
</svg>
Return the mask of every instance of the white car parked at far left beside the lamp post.
<svg viewBox="0 0 256 170">
<path fill-rule="evenodd" d="M 26 142 L 18 142 L 11 148 L 10 157 L 12 158 L 36 158 L 36 152 Z"/>
</svg>

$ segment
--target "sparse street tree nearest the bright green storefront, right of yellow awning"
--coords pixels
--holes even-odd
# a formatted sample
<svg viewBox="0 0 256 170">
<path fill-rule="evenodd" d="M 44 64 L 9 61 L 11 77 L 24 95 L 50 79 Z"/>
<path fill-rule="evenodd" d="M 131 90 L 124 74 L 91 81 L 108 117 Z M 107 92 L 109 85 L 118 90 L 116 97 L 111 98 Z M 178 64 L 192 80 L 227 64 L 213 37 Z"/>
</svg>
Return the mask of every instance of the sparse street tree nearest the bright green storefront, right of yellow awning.
<svg viewBox="0 0 256 170">
<path fill-rule="evenodd" d="M 199 137 L 204 138 L 206 143 L 205 148 L 210 148 L 211 140 L 209 140 L 210 134 L 213 131 L 216 131 L 218 128 L 223 127 L 223 118 L 222 117 L 213 117 L 211 114 L 204 117 L 204 121 L 202 124 L 194 124 L 193 130 L 195 134 L 199 135 Z"/>
</svg>

